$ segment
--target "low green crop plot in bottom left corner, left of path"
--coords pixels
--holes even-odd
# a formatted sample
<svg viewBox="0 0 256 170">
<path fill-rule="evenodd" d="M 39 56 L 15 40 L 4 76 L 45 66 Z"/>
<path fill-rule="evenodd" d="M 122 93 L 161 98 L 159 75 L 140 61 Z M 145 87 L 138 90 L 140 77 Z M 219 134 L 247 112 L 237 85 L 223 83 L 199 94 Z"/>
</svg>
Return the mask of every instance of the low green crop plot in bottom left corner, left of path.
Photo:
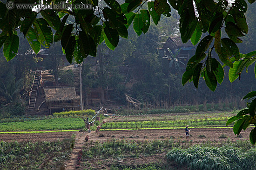
<svg viewBox="0 0 256 170">
<path fill-rule="evenodd" d="M 72 142 L 0 141 L 0 170 L 57 170 L 69 160 Z"/>
</svg>

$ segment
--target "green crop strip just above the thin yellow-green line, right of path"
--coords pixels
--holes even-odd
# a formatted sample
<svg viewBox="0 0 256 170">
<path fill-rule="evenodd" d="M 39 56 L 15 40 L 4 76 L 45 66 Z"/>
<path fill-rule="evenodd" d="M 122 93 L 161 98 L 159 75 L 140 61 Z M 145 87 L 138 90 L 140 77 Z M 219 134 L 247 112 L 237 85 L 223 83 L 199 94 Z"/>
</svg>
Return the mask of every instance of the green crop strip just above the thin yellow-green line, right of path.
<svg viewBox="0 0 256 170">
<path fill-rule="evenodd" d="M 102 129 L 122 128 L 154 128 L 154 127 L 180 127 L 180 126 L 225 126 L 228 118 L 219 120 L 166 120 L 166 121 L 140 121 L 140 122 L 109 122 L 101 126 Z"/>
</svg>

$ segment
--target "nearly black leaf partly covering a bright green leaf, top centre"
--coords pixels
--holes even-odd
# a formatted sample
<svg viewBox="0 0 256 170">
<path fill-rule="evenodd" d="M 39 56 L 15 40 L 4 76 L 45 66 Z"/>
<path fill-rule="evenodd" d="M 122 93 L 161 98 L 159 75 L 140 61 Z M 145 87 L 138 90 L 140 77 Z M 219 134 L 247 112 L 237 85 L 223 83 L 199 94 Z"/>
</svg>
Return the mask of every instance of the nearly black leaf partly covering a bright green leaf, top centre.
<svg viewBox="0 0 256 170">
<path fill-rule="evenodd" d="M 114 46 L 116 47 L 118 42 L 119 42 L 119 34 L 118 31 L 114 30 L 113 28 L 111 28 L 108 24 L 108 22 L 104 22 L 103 25 L 104 28 L 104 32 L 108 38 L 108 41 Z M 105 39 L 105 38 L 104 38 Z M 106 41 L 105 41 L 106 42 Z"/>
</svg>

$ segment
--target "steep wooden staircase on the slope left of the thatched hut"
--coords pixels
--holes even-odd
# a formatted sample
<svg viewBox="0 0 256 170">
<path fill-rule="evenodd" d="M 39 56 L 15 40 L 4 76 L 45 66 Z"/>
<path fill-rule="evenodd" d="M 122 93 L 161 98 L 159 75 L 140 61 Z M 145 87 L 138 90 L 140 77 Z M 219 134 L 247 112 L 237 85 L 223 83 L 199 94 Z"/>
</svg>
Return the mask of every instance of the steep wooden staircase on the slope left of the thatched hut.
<svg viewBox="0 0 256 170">
<path fill-rule="evenodd" d="M 42 75 L 42 70 L 40 72 L 35 72 L 34 74 L 34 81 L 33 81 L 31 90 L 29 92 L 28 110 L 34 110 L 41 75 Z"/>
</svg>

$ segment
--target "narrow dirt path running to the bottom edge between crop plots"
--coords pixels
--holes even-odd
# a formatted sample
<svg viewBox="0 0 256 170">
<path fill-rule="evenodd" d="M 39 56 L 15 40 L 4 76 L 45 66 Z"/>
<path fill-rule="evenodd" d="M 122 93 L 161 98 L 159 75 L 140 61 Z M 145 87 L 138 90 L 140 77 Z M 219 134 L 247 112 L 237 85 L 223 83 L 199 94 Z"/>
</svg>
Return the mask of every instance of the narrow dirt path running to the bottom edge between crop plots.
<svg viewBox="0 0 256 170">
<path fill-rule="evenodd" d="M 95 132 L 76 132 L 76 138 L 75 138 L 75 144 L 74 144 L 74 149 L 71 153 L 70 159 L 65 165 L 65 170 L 75 170 L 76 169 L 76 164 L 79 156 L 79 151 L 82 149 L 82 147 L 85 144 L 85 137 L 89 136 L 89 139 Z"/>
</svg>

